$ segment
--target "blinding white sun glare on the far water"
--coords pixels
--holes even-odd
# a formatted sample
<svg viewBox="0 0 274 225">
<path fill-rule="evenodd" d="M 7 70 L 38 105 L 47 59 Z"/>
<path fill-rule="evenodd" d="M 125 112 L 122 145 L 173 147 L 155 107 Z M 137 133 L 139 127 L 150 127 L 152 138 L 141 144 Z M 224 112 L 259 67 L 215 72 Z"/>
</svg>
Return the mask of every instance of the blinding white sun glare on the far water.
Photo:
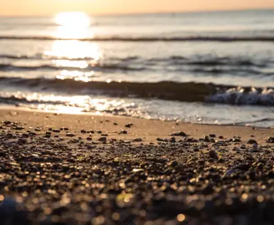
<svg viewBox="0 0 274 225">
<path fill-rule="evenodd" d="M 87 36 L 90 38 L 90 33 L 93 36 L 90 16 L 81 12 L 66 12 L 58 14 L 55 21 L 59 26 L 54 36 L 75 39 L 54 41 L 51 50 L 43 53 L 45 58 L 52 59 L 53 65 L 68 68 L 56 78 L 85 82 L 92 80 L 95 73 L 93 67 L 102 60 L 102 51 L 98 43 L 79 40 Z M 83 72 L 83 69 L 87 72 Z"/>
</svg>

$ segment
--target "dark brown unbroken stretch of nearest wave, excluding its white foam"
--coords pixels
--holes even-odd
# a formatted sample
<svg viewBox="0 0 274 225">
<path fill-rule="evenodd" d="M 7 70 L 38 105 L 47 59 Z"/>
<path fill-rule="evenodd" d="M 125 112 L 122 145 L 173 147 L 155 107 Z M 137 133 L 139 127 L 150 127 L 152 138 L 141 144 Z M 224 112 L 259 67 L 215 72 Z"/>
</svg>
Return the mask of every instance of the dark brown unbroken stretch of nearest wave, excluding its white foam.
<svg viewBox="0 0 274 225">
<path fill-rule="evenodd" d="M 163 100 L 180 100 L 202 102 L 212 91 L 214 85 L 205 83 L 176 83 L 162 81 L 159 83 L 131 82 L 83 82 L 73 79 L 46 78 L 11 78 L 1 77 L 0 85 L 25 88 L 33 91 L 64 92 L 73 94 L 100 94 L 113 97 L 159 98 Z"/>
</svg>

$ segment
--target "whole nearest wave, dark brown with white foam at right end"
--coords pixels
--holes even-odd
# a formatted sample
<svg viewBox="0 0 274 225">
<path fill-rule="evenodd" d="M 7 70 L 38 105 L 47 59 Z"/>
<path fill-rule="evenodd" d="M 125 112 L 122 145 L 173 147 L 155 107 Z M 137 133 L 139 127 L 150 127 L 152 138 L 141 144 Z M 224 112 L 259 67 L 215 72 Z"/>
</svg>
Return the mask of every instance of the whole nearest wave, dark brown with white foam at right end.
<svg viewBox="0 0 274 225">
<path fill-rule="evenodd" d="M 75 95 L 109 95 L 119 98 L 157 98 L 184 102 L 224 103 L 229 105 L 274 105 L 273 88 L 234 87 L 213 83 L 83 82 L 73 79 L 0 77 L 0 85 L 33 91 Z"/>
</svg>

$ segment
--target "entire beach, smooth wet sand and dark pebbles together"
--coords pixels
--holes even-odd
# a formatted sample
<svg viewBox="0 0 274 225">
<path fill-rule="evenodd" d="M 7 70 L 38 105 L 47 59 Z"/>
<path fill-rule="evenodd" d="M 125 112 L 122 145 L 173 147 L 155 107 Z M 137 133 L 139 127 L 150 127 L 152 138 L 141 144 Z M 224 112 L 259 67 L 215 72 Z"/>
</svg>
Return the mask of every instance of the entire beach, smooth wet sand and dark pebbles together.
<svg viewBox="0 0 274 225">
<path fill-rule="evenodd" d="M 274 130 L 0 117 L 0 224 L 274 224 Z"/>
</svg>

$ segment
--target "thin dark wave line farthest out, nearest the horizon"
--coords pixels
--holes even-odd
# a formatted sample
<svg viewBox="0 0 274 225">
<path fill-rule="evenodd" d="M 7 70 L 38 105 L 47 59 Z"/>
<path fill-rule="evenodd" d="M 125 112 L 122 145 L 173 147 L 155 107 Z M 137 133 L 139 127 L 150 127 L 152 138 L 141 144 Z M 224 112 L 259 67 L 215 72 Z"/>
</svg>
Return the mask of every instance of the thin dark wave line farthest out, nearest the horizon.
<svg viewBox="0 0 274 225">
<path fill-rule="evenodd" d="M 265 41 L 273 42 L 274 36 L 110 36 L 94 38 L 59 38 L 55 36 L 0 36 L 0 40 L 38 40 L 38 41 L 216 41 L 216 42 L 236 42 L 236 41 Z"/>
</svg>

